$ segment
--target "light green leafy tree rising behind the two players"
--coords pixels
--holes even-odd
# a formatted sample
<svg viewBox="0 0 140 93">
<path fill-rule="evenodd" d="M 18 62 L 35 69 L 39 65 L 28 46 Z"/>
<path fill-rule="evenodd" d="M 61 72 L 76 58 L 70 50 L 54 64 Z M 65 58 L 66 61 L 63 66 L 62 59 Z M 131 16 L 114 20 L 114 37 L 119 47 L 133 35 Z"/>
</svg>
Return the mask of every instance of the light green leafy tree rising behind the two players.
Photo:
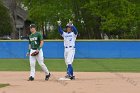
<svg viewBox="0 0 140 93">
<path fill-rule="evenodd" d="M 69 8 L 69 2 L 69 0 L 63 0 L 63 3 L 62 0 L 23 0 L 28 7 L 28 19 L 38 25 L 38 30 L 46 32 L 48 38 L 58 38 L 59 34 L 45 31 L 44 27 L 47 23 L 55 26 L 57 20 L 61 20 L 66 24 L 71 18 L 72 10 Z"/>
</svg>

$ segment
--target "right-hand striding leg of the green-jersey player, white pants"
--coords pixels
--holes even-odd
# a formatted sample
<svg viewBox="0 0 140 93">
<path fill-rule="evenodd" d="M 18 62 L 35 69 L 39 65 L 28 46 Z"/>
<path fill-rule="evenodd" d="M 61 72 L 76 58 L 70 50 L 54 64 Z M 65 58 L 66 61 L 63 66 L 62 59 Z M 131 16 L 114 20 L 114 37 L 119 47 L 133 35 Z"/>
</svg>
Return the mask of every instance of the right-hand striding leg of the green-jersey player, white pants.
<svg viewBox="0 0 140 93">
<path fill-rule="evenodd" d="M 49 72 L 48 68 L 46 67 L 46 65 L 44 64 L 44 57 L 43 57 L 42 49 L 40 49 L 39 54 L 36 56 L 36 59 L 37 59 L 39 65 L 41 66 L 41 69 L 45 72 L 45 75 L 46 75 L 45 79 L 48 80 L 50 77 L 50 72 Z"/>
</svg>

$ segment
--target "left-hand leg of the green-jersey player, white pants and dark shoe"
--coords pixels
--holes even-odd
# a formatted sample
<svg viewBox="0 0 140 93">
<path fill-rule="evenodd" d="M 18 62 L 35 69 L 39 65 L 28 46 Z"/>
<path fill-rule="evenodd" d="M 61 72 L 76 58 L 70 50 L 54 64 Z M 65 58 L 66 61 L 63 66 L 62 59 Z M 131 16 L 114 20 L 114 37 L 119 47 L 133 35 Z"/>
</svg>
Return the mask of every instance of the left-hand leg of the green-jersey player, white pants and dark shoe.
<svg viewBox="0 0 140 93">
<path fill-rule="evenodd" d="M 31 50 L 30 54 L 33 53 L 34 50 Z M 30 56 L 30 77 L 29 80 L 34 80 L 35 77 L 35 64 L 36 64 L 36 58 L 35 56 Z"/>
</svg>

